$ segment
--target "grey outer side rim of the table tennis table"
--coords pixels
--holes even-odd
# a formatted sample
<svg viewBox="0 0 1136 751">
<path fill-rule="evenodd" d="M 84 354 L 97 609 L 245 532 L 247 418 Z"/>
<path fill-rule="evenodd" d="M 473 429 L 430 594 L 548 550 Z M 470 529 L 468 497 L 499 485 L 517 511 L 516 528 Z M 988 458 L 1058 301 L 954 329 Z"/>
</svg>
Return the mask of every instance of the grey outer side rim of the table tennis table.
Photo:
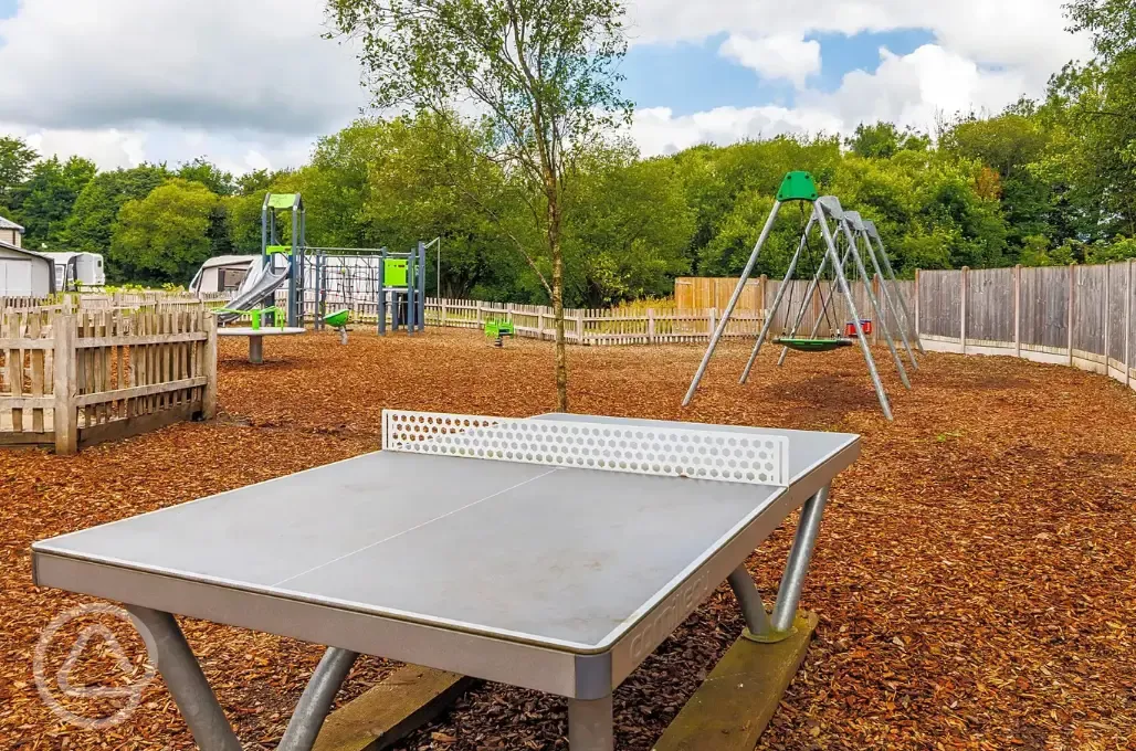
<svg viewBox="0 0 1136 751">
<path fill-rule="evenodd" d="M 533 634 L 516 634 L 475 624 L 433 618 L 423 614 L 403 614 L 393 609 L 364 609 L 359 608 L 358 603 L 341 603 L 326 598 L 304 598 L 268 587 L 261 590 L 224 579 L 186 576 L 179 571 L 161 573 L 153 568 L 131 566 L 125 561 L 68 554 L 47 549 L 40 543 L 33 545 L 33 578 L 40 586 L 56 586 L 127 604 L 177 612 L 185 617 L 294 637 L 311 643 L 342 646 L 387 659 L 428 665 L 438 669 L 569 698 L 585 698 L 577 694 L 582 690 L 586 690 L 584 691 L 586 694 L 595 693 L 600 690 L 601 684 L 607 686 L 607 691 L 619 685 L 690 612 L 698 608 L 726 579 L 728 573 L 737 566 L 737 561 L 744 561 L 750 552 L 760 545 L 761 541 L 780 526 L 790 512 L 799 508 L 816 490 L 827 486 L 836 474 L 851 465 L 859 454 L 859 439 L 853 437 L 840 451 L 817 462 L 801 475 L 799 482 L 738 523 L 703 556 L 661 587 L 635 614 L 596 644 L 582 644 Z M 813 482 L 805 483 L 805 478 L 812 478 Z M 53 540 L 59 540 L 59 537 Z M 84 586 L 76 586 L 74 584 L 76 579 L 82 579 Z M 56 583 L 62 581 L 66 581 L 66 584 Z M 209 593 L 207 594 L 202 589 L 209 590 Z M 139 596 L 148 591 L 148 595 Z M 226 599 L 240 600 L 250 596 L 257 603 L 256 608 L 250 608 L 248 603 L 242 602 L 233 602 L 228 608 L 216 604 Z M 186 606 L 186 603 L 191 604 Z M 324 625 L 315 628 L 310 626 L 292 628 L 292 618 L 301 623 L 304 621 L 304 618 L 298 616 L 298 611 L 304 609 L 308 611 L 318 609 L 319 612 L 326 612 L 327 615 L 321 619 Z M 282 614 L 283 617 L 267 615 L 269 611 L 289 611 L 292 615 Z M 661 616 L 666 616 L 665 623 L 660 623 L 660 616 L 657 615 L 659 612 Z M 335 631 L 327 627 L 333 614 L 341 619 L 348 618 L 350 620 L 354 616 L 370 621 L 367 629 L 373 632 L 373 637 L 364 640 L 366 643 L 359 643 L 346 633 L 351 631 L 350 627 L 340 629 L 343 633 L 328 633 Z M 383 631 L 383 628 L 376 627 L 385 627 L 386 632 L 392 633 L 379 635 L 374 632 Z M 410 634 L 415 631 L 423 632 L 417 634 L 417 640 Z M 403 635 L 399 636 L 394 632 L 402 632 Z M 510 670 L 492 670 L 487 669 L 485 665 L 459 665 L 456 661 L 432 664 L 431 653 L 440 651 L 436 648 L 411 648 L 409 650 L 404 648 L 407 643 L 423 641 L 424 635 L 431 634 L 440 641 L 453 642 L 453 646 L 444 650 L 448 652 L 460 652 L 468 649 L 488 650 L 488 653 L 516 652 L 517 654 L 510 654 L 508 658 L 504 658 L 503 654 L 501 657 L 513 666 L 525 660 L 535 660 L 536 665 L 543 667 L 529 671 L 533 675 L 517 679 Z M 425 641 L 431 640 L 425 639 Z M 467 642 L 469 645 L 458 648 L 457 644 L 461 642 Z M 491 643 L 500 649 L 491 649 Z M 560 659 L 550 660 L 549 656 L 558 656 Z M 551 662 L 557 664 L 556 668 Z M 570 686 L 563 681 L 551 677 L 553 669 L 563 671 L 569 668 L 567 662 L 571 664 L 570 671 L 574 675 Z M 609 675 L 610 678 L 600 681 L 599 676 L 603 674 Z"/>
</svg>

